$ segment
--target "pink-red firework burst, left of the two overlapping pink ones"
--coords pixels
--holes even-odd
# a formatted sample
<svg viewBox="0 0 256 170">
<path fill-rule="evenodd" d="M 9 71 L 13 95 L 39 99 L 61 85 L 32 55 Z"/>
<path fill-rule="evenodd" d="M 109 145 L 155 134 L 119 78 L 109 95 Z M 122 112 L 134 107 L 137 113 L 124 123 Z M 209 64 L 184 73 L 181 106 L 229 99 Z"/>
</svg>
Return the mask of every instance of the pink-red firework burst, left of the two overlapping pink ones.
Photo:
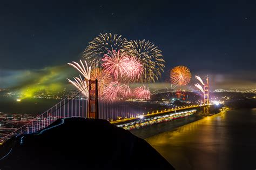
<svg viewBox="0 0 256 170">
<path fill-rule="evenodd" d="M 104 55 L 102 66 L 104 69 L 113 75 L 114 80 L 122 78 L 126 74 L 126 63 L 129 61 L 129 56 L 125 52 L 122 54 L 118 50 L 112 50 Z"/>
</svg>

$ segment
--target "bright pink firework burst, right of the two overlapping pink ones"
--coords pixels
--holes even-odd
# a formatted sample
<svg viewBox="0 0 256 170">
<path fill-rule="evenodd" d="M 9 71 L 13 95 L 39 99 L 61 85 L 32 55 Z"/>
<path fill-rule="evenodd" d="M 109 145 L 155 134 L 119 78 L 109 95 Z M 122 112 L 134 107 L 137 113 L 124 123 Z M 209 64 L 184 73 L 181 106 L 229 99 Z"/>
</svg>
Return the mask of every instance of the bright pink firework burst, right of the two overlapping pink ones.
<svg viewBox="0 0 256 170">
<path fill-rule="evenodd" d="M 126 77 L 131 81 L 136 81 L 143 74 L 143 65 L 140 61 L 134 56 L 128 56 L 128 60 L 125 62 L 125 73 Z"/>
</svg>

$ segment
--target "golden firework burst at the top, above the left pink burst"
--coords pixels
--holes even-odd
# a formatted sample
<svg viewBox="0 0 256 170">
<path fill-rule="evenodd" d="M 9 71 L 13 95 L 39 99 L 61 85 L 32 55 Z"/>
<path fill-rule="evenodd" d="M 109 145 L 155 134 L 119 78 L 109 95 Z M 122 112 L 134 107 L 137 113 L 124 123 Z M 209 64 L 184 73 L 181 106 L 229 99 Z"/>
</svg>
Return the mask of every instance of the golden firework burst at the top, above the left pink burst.
<svg viewBox="0 0 256 170">
<path fill-rule="evenodd" d="M 117 34 L 112 35 L 111 33 L 100 33 L 98 37 L 93 39 L 83 52 L 83 58 L 85 59 L 100 59 L 108 51 L 120 50 L 120 52 L 126 51 L 125 49 L 129 46 L 129 42 L 126 38 L 122 38 Z"/>
</svg>

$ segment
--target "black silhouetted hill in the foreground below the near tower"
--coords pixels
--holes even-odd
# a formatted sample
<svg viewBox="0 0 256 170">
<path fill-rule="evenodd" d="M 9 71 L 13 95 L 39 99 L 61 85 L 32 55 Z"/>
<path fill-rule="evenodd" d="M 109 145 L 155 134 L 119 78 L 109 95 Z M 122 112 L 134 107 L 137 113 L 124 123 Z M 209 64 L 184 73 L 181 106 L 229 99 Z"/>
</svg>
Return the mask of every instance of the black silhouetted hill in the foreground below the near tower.
<svg viewBox="0 0 256 170">
<path fill-rule="evenodd" d="M 146 141 L 106 120 L 63 118 L 0 147 L 0 169 L 174 169 Z"/>
</svg>

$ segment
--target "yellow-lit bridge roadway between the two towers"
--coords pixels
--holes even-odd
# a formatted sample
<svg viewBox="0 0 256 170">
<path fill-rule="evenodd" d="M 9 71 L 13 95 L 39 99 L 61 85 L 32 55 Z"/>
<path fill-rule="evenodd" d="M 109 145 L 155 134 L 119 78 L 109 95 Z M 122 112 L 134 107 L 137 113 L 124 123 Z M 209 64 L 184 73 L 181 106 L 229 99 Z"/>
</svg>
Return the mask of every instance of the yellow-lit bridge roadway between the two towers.
<svg viewBox="0 0 256 170">
<path fill-rule="evenodd" d="M 210 105 L 214 105 L 214 104 L 209 104 L 208 107 L 210 107 Z M 157 111 L 157 112 L 147 112 L 147 114 L 141 114 L 141 115 L 137 115 L 136 117 L 130 117 L 130 118 L 119 118 L 118 120 L 111 120 L 110 123 L 114 124 L 114 125 L 119 125 L 119 124 L 125 124 L 125 123 L 129 123 L 131 121 L 135 121 L 135 120 L 139 120 L 140 118 L 146 118 L 146 117 L 154 117 L 156 115 L 163 115 L 166 113 L 173 113 L 176 111 L 182 111 L 182 110 L 187 110 L 190 108 L 198 108 L 198 107 L 204 107 L 207 105 L 189 105 L 189 106 L 180 106 L 180 107 L 176 107 L 176 108 L 169 108 L 169 109 L 165 109 L 165 110 L 161 110 L 161 111 Z"/>
</svg>

